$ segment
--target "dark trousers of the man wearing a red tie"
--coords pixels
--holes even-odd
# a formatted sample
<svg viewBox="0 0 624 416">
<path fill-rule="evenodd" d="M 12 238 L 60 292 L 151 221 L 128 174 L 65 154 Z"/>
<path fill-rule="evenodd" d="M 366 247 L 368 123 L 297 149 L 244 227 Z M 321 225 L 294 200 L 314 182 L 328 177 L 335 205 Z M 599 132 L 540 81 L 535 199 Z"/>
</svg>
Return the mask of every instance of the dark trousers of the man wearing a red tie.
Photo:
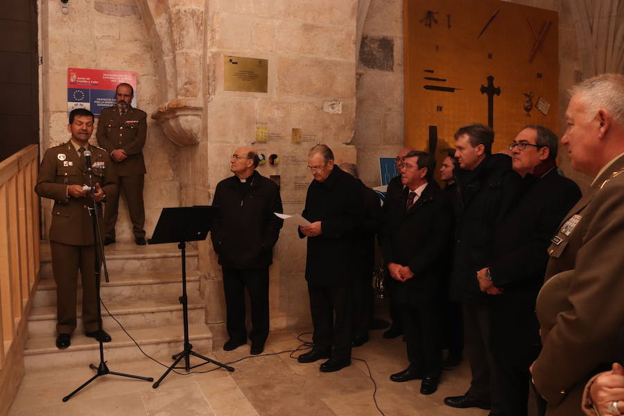
<svg viewBox="0 0 624 416">
<path fill-rule="evenodd" d="M 401 304 L 401 317 L 410 368 L 426 377 L 439 379 L 442 374 L 442 319 L 437 307 L 425 304 Z"/>
</svg>

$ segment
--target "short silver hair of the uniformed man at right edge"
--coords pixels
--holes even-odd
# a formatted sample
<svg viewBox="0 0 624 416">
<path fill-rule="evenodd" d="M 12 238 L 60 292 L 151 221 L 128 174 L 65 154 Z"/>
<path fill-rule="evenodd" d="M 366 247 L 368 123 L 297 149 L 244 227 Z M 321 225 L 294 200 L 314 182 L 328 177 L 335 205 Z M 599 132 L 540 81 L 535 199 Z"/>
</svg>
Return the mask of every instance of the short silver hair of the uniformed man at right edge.
<svg viewBox="0 0 624 416">
<path fill-rule="evenodd" d="M 589 119 L 600 108 L 607 110 L 619 125 L 624 127 L 624 76 L 619 73 L 603 73 L 584 80 L 570 89 L 571 96 L 585 105 Z"/>
</svg>

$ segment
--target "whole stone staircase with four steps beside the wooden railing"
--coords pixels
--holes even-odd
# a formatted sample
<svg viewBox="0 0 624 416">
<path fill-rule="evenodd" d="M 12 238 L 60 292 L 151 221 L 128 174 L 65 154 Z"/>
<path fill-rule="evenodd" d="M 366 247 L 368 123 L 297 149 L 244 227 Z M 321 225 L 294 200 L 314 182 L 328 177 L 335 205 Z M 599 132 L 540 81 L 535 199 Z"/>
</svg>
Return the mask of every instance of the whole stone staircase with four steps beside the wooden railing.
<svg viewBox="0 0 624 416">
<path fill-rule="evenodd" d="M 182 350 L 182 294 L 180 250 L 177 244 L 139 246 L 115 243 L 105 248 L 110 282 L 102 271 L 101 297 L 108 311 L 123 324 L 141 348 L 164 363 Z M 200 298 L 198 253 L 187 246 L 187 295 L 189 296 L 189 335 L 193 350 L 212 351 L 212 334 L 205 324 L 205 302 Z M 80 282 L 80 277 L 78 278 Z M 81 320 L 81 286 L 78 285 L 78 326 L 71 346 L 57 349 L 56 286 L 52 275 L 49 244 L 41 243 L 41 280 L 28 317 L 28 341 L 24 366 L 28 370 L 97 364 L 99 345 L 84 336 Z M 110 362 L 134 361 L 144 357 L 105 309 L 104 329 L 112 342 L 105 343 L 105 359 Z"/>
</svg>

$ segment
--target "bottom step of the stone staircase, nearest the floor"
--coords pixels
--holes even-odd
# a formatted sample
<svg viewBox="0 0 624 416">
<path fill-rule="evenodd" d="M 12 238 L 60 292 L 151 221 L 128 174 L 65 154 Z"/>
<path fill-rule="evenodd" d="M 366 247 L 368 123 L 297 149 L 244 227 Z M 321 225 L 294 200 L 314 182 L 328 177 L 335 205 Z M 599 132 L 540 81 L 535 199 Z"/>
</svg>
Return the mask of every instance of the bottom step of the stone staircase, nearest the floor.
<svg viewBox="0 0 624 416">
<path fill-rule="evenodd" d="M 107 330 L 112 342 L 104 344 L 105 360 L 109 363 L 135 361 L 143 358 L 135 343 L 121 329 Z M 171 364 L 171 355 L 184 349 L 182 324 L 158 328 L 130 329 L 128 332 L 146 354 Z M 44 370 L 99 361 L 99 344 L 93 338 L 74 335 L 67 349 L 55 347 L 56 336 L 29 338 L 24 349 L 26 371 Z M 212 351 L 212 333 L 205 324 L 189 324 L 189 340 L 193 351 L 207 355 Z"/>
</svg>

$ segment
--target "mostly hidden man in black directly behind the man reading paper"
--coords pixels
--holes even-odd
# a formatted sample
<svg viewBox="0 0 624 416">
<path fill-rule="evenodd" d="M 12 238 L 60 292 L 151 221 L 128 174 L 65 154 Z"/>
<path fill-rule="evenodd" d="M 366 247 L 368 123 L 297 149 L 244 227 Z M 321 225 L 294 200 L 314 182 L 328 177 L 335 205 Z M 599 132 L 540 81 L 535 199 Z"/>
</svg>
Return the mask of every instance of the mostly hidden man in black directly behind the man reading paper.
<svg viewBox="0 0 624 416">
<path fill-rule="evenodd" d="M 359 179 L 358 165 L 343 163 L 340 164 L 340 168 L 356 178 L 366 205 L 364 222 L 358 226 L 361 270 L 353 281 L 351 321 L 353 325 L 351 345 L 359 347 L 368 342 L 368 329 L 373 315 L 372 274 L 375 267 L 375 235 L 381 228 L 381 200 L 375 191 Z"/>
</svg>

